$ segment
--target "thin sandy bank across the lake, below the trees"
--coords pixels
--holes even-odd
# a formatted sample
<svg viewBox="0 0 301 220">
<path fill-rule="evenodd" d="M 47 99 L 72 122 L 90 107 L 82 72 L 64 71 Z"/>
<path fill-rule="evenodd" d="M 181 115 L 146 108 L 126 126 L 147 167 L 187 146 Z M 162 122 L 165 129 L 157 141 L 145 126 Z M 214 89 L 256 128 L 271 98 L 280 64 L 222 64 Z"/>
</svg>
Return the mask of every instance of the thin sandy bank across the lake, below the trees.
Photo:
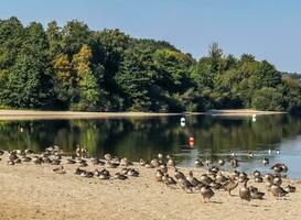
<svg viewBox="0 0 301 220">
<path fill-rule="evenodd" d="M 182 114 L 251 117 L 252 114 L 261 116 L 261 114 L 279 114 L 279 113 L 284 113 L 284 112 L 257 111 L 251 109 L 209 110 L 207 112 L 184 112 L 184 113 L 0 110 L 0 120 L 146 118 L 146 117 L 168 117 L 168 116 L 182 116 Z"/>
</svg>

